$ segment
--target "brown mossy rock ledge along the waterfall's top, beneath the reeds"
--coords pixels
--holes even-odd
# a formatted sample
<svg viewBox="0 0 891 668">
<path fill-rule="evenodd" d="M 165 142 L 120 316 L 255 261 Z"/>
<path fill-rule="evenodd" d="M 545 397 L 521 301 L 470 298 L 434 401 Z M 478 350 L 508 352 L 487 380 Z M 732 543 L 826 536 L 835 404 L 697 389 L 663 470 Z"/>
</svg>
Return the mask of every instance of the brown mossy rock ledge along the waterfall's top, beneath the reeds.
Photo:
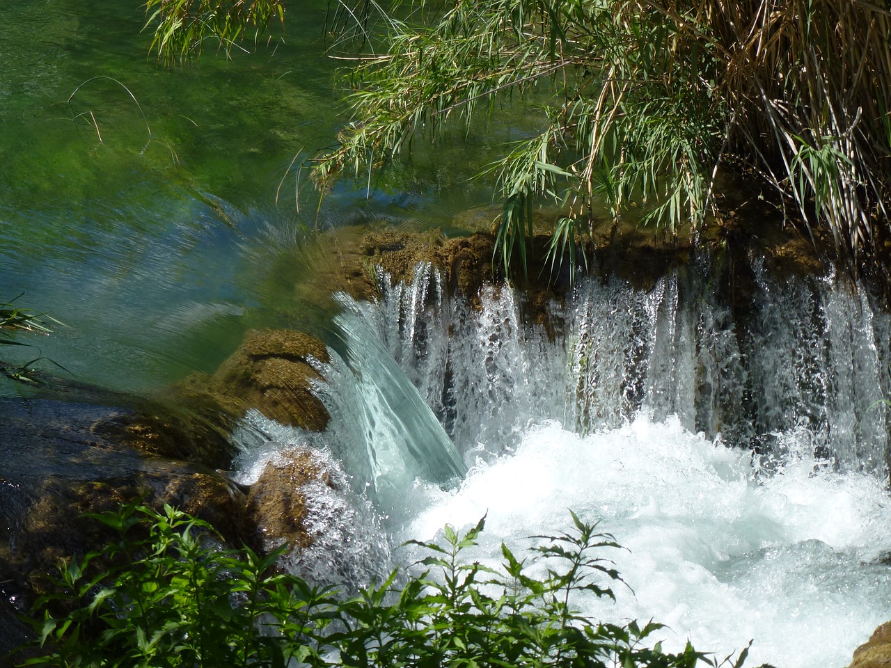
<svg viewBox="0 0 891 668">
<path fill-rule="evenodd" d="M 720 192 L 722 213 L 709 216 L 695 231 L 689 224 L 674 230 L 640 224 L 642 209 L 632 208 L 619 220 L 594 216 L 584 242 L 579 240 L 589 271 L 649 289 L 674 267 L 689 265 L 695 254 L 708 251 L 729 257 L 733 265 L 748 265 L 749 256 L 754 256 L 764 257 L 769 268 L 780 273 L 825 272 L 828 265 L 823 258 L 830 256 L 827 240 L 812 238 L 785 223 L 779 209 L 743 184 L 722 181 L 715 191 Z M 330 314 L 335 308 L 334 292 L 372 299 L 379 268 L 395 283 L 411 281 L 419 264 L 437 267 L 450 289 L 473 301 L 482 284 L 504 278 L 503 268 L 495 262 L 502 211 L 500 205 L 468 209 L 447 225 L 448 236 L 438 230 L 406 229 L 404 221 L 366 221 L 324 232 L 301 250 L 300 262 L 313 271 L 296 281 L 299 308 L 310 314 Z M 548 293 L 546 297 L 560 295 L 572 285 L 567 259 L 552 263 L 549 257 L 551 232 L 559 216 L 555 208 L 533 212 L 527 271 L 519 262 L 519 249 L 514 248 L 509 279 L 530 296 L 542 291 Z"/>
</svg>

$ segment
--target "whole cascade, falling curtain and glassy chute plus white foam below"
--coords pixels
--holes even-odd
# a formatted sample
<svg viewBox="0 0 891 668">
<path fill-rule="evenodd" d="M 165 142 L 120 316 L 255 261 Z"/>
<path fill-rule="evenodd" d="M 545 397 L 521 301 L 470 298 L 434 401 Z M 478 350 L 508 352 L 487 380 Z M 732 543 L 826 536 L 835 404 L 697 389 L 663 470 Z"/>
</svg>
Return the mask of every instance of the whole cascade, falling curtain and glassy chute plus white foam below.
<svg viewBox="0 0 891 668">
<path fill-rule="evenodd" d="M 846 665 L 891 609 L 891 318 L 865 288 L 753 272 L 744 322 L 691 265 L 579 281 L 548 328 L 511 289 L 474 307 L 429 265 L 381 275 L 377 302 L 342 298 L 314 446 L 394 542 L 487 513 L 495 562 L 574 509 L 629 549 L 633 591 L 585 614 L 655 617 L 669 648 L 754 639 L 751 665 Z"/>
</svg>

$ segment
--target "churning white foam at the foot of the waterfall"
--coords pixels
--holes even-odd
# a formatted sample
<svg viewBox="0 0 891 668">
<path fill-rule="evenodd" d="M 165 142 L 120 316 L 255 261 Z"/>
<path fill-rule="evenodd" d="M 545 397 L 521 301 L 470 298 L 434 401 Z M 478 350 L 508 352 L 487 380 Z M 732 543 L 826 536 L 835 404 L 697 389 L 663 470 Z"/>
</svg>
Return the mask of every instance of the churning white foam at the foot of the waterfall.
<svg viewBox="0 0 891 668">
<path fill-rule="evenodd" d="M 891 548 L 887 491 L 794 447 L 768 474 L 749 452 L 676 419 L 640 417 L 591 436 L 549 422 L 514 454 L 480 463 L 458 490 L 415 494 L 419 513 L 403 540 L 487 513 L 479 557 L 493 564 L 502 540 L 519 550 L 529 535 L 569 531 L 568 509 L 601 520 L 628 549 L 609 556 L 634 593 L 619 587 L 616 604 L 577 604 L 604 620 L 666 623 L 667 648 L 689 637 L 723 658 L 754 639 L 748 665 L 846 665 L 891 609 L 891 573 L 870 565 Z"/>
</svg>

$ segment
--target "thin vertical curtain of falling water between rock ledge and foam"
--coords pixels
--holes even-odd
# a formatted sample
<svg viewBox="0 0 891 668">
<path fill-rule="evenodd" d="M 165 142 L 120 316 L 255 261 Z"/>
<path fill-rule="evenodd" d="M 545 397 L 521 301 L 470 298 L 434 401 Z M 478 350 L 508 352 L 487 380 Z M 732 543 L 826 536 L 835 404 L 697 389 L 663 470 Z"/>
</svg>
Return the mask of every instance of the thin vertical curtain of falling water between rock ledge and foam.
<svg viewBox="0 0 891 668">
<path fill-rule="evenodd" d="M 839 470 L 887 478 L 891 317 L 864 285 L 754 271 L 739 323 L 705 265 L 650 289 L 579 281 L 550 330 L 526 322 L 511 289 L 484 288 L 481 308 L 447 295 L 429 265 L 410 284 L 381 276 L 364 312 L 468 465 L 541 420 L 591 433 L 644 411 L 766 455 L 804 430 Z"/>
</svg>

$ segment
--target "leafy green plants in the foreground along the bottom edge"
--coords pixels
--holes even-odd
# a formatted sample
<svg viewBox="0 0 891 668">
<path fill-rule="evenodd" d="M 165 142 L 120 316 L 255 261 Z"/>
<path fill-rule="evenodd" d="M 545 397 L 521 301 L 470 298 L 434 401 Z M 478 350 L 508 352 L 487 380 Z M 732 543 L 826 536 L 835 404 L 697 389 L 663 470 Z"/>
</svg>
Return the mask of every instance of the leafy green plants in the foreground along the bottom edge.
<svg viewBox="0 0 891 668">
<path fill-rule="evenodd" d="M 119 538 L 61 565 L 30 619 L 43 654 L 23 665 L 718 665 L 689 643 L 679 654 L 652 644 L 658 623 L 594 623 L 576 612 L 576 592 L 614 598 L 611 586 L 622 581 L 600 556 L 615 539 L 575 514 L 573 532 L 535 536 L 529 558 L 503 545 L 498 569 L 463 558 L 485 518 L 465 534 L 446 526 L 445 542 L 413 542 L 428 554 L 421 574 L 399 585 L 394 571 L 348 599 L 276 571 L 281 550 L 264 558 L 223 549 L 210 526 L 170 507 L 94 517 Z M 529 575 L 541 560 L 544 578 Z M 747 653 L 720 665 L 739 667 Z"/>
</svg>

